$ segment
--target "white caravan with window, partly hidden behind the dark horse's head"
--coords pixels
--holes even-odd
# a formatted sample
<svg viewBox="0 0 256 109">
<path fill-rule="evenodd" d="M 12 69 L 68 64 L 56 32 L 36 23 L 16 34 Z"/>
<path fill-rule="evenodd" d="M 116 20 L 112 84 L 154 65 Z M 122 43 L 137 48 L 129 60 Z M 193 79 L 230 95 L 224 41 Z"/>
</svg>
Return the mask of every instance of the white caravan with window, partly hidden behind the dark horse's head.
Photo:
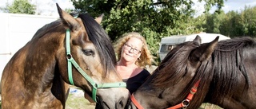
<svg viewBox="0 0 256 109">
<path fill-rule="evenodd" d="M 169 53 L 171 49 L 174 49 L 176 45 L 186 41 L 193 41 L 197 35 L 202 38 L 202 43 L 213 41 L 217 36 L 219 36 L 218 41 L 230 39 L 230 37 L 218 33 L 195 33 L 190 35 L 163 37 L 158 50 L 160 60 L 162 61 L 166 57 L 166 54 Z"/>
</svg>

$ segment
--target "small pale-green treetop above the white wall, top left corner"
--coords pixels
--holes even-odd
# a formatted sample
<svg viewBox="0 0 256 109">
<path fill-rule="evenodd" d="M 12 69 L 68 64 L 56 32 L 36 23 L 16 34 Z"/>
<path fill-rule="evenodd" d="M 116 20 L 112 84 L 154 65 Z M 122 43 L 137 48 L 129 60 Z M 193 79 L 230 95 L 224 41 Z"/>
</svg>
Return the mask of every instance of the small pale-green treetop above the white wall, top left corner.
<svg viewBox="0 0 256 109">
<path fill-rule="evenodd" d="M 35 14 L 35 6 L 28 0 L 14 0 L 12 5 L 7 5 L 4 11 L 12 14 Z"/>
</svg>

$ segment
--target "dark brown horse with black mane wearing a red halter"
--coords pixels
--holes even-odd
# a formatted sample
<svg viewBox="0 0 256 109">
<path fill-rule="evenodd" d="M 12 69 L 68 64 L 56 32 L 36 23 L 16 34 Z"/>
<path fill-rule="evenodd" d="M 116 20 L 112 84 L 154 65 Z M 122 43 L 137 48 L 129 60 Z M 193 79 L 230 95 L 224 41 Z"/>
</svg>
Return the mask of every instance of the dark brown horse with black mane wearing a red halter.
<svg viewBox="0 0 256 109">
<path fill-rule="evenodd" d="M 200 45 L 201 38 L 172 49 L 131 96 L 131 108 L 226 109 L 256 107 L 256 42 L 249 37 Z M 136 107 L 134 106 L 136 105 Z"/>
</svg>

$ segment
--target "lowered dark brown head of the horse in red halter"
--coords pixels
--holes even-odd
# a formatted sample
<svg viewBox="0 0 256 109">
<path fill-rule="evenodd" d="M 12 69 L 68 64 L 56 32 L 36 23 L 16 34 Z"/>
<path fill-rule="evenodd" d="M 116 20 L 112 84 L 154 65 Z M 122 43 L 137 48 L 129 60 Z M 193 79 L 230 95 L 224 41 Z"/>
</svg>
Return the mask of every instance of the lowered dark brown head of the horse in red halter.
<svg viewBox="0 0 256 109">
<path fill-rule="evenodd" d="M 197 36 L 194 41 L 177 45 L 134 92 L 130 107 L 167 108 L 182 103 L 200 80 L 196 76 L 198 68 L 210 59 L 217 44 L 218 37 L 201 45 L 201 37 Z"/>
</svg>

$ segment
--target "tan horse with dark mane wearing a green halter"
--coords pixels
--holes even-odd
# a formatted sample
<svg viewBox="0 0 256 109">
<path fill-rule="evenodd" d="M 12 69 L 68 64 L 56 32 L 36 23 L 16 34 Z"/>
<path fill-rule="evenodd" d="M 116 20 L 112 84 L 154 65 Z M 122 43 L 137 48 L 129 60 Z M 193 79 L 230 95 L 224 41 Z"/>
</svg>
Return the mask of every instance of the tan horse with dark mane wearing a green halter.
<svg viewBox="0 0 256 109">
<path fill-rule="evenodd" d="M 60 19 L 38 29 L 6 64 L 2 109 L 65 108 L 66 83 L 82 88 L 104 108 L 124 108 L 129 91 L 115 71 L 114 49 L 98 24 L 101 18 L 74 18 L 57 7 Z"/>
</svg>

